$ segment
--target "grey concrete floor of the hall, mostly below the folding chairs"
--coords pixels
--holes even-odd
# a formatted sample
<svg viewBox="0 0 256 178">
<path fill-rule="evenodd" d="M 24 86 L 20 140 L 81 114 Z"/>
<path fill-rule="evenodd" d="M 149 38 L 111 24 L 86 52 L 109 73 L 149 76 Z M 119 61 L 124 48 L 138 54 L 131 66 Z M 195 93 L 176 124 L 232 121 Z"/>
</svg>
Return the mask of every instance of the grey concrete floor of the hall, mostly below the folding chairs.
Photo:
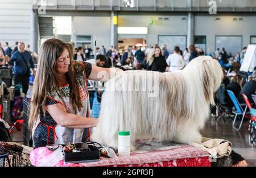
<svg viewBox="0 0 256 178">
<path fill-rule="evenodd" d="M 221 119 L 215 121 L 214 118 L 210 118 L 201 133 L 207 138 L 229 140 L 233 144 L 233 150 L 242 155 L 249 166 L 256 166 L 256 146 L 250 143 L 248 121 L 243 121 L 240 131 L 237 131 L 232 128 L 232 119 L 224 123 Z M 22 131 L 14 129 L 11 135 L 14 141 L 22 143 Z"/>
</svg>

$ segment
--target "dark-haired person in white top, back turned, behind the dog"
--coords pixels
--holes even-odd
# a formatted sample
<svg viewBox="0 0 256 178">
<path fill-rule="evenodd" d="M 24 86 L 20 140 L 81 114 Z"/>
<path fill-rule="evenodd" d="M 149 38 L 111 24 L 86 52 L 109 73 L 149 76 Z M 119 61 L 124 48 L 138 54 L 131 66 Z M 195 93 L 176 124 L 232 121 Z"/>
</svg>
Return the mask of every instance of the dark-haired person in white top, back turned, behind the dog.
<svg viewBox="0 0 256 178">
<path fill-rule="evenodd" d="M 175 47 L 174 48 L 174 53 L 169 55 L 167 58 L 167 64 L 170 67 L 169 71 L 170 72 L 174 72 L 174 71 L 178 71 L 181 70 L 184 66 L 184 61 L 182 56 L 180 55 L 180 48 L 179 47 Z"/>
</svg>

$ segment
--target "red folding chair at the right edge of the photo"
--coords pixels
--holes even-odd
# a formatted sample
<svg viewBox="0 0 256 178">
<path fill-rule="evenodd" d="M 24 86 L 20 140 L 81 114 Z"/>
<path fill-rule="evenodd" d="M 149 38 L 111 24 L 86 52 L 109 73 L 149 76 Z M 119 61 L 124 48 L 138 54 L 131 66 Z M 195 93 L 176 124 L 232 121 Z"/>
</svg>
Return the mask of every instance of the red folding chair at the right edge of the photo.
<svg viewBox="0 0 256 178">
<path fill-rule="evenodd" d="M 251 107 L 250 101 L 248 100 L 247 96 L 245 94 L 242 94 L 243 99 L 246 102 L 246 105 L 249 107 L 250 109 L 250 114 L 251 114 L 251 118 L 249 120 L 249 132 L 250 134 L 253 134 L 256 131 L 256 109 L 254 109 L 253 107 Z M 251 142 L 253 142 L 256 139 L 256 135 L 254 135 L 251 138 Z"/>
</svg>

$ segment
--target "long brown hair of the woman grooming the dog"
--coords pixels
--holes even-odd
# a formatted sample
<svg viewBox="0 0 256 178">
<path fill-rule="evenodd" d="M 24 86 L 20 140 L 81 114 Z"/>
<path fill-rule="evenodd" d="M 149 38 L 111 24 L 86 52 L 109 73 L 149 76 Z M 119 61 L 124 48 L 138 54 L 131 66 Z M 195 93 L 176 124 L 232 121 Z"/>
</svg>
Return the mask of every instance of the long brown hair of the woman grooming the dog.
<svg viewBox="0 0 256 178">
<path fill-rule="evenodd" d="M 61 40 L 48 39 L 42 44 L 39 50 L 38 68 L 36 69 L 36 77 L 32 90 L 28 121 L 30 128 L 34 126 L 40 111 L 43 111 L 43 114 L 46 113 L 45 104 L 48 93 L 51 94 L 53 90 L 59 89 L 55 66 L 57 59 L 61 56 L 64 49 L 68 50 L 70 57 L 69 69 L 68 72 L 65 73 L 70 89 L 69 98 L 73 108 L 76 111 L 81 110 L 82 102 L 80 100 L 80 95 L 77 92 L 78 84 L 77 81 L 74 80 L 74 78 L 76 78 L 76 73 L 72 62 L 72 51 L 69 46 Z"/>
</svg>

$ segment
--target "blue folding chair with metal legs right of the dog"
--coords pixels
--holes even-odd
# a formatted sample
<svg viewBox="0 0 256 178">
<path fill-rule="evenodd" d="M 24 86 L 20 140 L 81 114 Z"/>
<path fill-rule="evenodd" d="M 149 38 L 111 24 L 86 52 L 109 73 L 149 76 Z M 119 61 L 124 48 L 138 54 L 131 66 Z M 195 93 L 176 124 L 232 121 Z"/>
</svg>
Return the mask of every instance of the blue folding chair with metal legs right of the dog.
<svg viewBox="0 0 256 178">
<path fill-rule="evenodd" d="M 226 91 L 228 92 L 229 97 L 232 100 L 232 102 L 234 104 L 234 107 L 236 108 L 236 111 L 233 111 L 233 113 L 235 114 L 235 117 L 234 117 L 234 121 L 233 121 L 233 125 L 232 126 L 233 126 L 234 129 L 240 130 L 241 126 L 242 126 L 242 123 L 243 123 L 243 118 L 245 118 L 245 113 L 246 113 L 246 110 L 247 110 L 247 105 L 245 104 L 245 110 L 243 110 L 241 105 L 240 105 L 240 103 L 237 101 L 237 98 L 234 95 L 234 93 L 231 90 L 226 90 Z M 242 115 L 242 119 L 241 119 L 239 127 L 237 128 L 234 125 L 236 123 L 236 119 L 237 119 L 238 115 Z"/>
</svg>

